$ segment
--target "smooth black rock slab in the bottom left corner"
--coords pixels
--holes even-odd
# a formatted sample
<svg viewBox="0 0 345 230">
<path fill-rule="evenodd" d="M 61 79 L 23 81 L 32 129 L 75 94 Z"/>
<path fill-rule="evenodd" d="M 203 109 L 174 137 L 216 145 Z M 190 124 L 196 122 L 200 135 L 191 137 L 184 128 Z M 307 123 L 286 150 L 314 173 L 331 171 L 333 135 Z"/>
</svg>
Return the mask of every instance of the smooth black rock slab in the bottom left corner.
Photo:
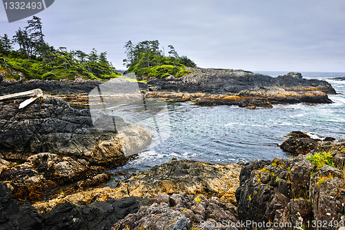
<svg viewBox="0 0 345 230">
<path fill-rule="evenodd" d="M 89 205 L 66 202 L 40 214 L 30 204 L 14 200 L 6 184 L 0 184 L 0 193 L 0 229 L 110 229 L 147 203 L 135 197 Z"/>
</svg>

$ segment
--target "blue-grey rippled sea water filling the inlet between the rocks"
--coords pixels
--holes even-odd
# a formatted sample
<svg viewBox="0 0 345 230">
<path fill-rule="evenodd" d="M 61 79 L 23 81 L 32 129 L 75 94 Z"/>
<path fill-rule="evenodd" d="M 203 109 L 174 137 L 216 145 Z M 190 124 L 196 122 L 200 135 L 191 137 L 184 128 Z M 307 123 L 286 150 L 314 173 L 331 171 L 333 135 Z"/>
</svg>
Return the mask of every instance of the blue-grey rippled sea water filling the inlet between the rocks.
<svg viewBox="0 0 345 230">
<path fill-rule="evenodd" d="M 286 74 L 261 73 L 273 77 Z M 291 131 L 303 131 L 319 138 L 345 138 L 345 81 L 329 79 L 345 77 L 345 73 L 302 75 L 307 79 L 325 79 L 342 94 L 328 96 L 333 104 L 276 105 L 256 110 L 238 106 L 195 106 L 190 102 L 157 104 L 150 113 L 164 111 L 164 119 L 159 115 L 151 121 L 135 119 L 152 131 L 155 136 L 152 144 L 113 172 L 145 170 L 172 157 L 217 164 L 288 158 L 290 154 L 282 151 L 279 144 Z M 128 108 L 130 106 L 133 105 Z M 128 111 L 132 113 L 133 109 Z M 128 122 L 133 121 L 133 116 Z"/>
</svg>

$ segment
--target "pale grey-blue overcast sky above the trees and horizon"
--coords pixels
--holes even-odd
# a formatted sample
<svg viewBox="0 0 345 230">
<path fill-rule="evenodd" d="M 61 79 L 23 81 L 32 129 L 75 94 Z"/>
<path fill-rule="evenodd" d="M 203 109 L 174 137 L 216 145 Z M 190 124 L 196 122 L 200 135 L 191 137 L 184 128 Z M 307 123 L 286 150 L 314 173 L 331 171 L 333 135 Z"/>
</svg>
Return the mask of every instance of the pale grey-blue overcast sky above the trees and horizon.
<svg viewBox="0 0 345 230">
<path fill-rule="evenodd" d="M 0 6 L 0 35 L 8 23 Z M 124 44 L 159 40 L 201 68 L 345 72 L 344 0 L 57 0 L 39 12 L 51 46 L 107 51 L 124 69 Z"/>
</svg>

